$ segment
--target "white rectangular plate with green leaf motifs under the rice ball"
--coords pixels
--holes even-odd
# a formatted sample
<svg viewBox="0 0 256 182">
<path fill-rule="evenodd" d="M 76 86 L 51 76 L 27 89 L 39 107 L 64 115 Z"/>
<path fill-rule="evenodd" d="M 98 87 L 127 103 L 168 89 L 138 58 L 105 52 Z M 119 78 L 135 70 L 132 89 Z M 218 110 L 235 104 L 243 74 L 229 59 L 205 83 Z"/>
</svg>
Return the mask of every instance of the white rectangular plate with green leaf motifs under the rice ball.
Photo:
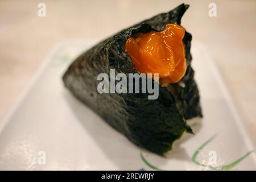
<svg viewBox="0 0 256 182">
<path fill-rule="evenodd" d="M 163 158 L 135 146 L 64 88 L 68 65 L 95 43 L 67 40 L 47 56 L 2 122 L 0 169 L 256 169 L 254 146 L 203 44 L 192 42 L 192 66 L 204 118 L 188 121 L 195 135 L 184 134 Z"/>
</svg>

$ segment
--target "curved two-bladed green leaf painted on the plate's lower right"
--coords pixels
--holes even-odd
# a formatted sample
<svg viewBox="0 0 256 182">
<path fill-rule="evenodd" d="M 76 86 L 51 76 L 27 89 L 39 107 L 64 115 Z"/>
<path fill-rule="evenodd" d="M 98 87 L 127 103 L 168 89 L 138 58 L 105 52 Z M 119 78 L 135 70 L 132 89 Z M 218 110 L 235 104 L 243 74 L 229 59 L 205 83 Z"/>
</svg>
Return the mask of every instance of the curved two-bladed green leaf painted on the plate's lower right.
<svg viewBox="0 0 256 182">
<path fill-rule="evenodd" d="M 230 164 L 226 164 L 225 166 L 219 166 L 219 167 L 213 167 L 213 166 L 209 166 L 207 164 L 201 164 L 200 162 L 198 162 L 196 160 L 197 158 L 197 155 L 199 155 L 200 151 L 203 150 L 203 148 L 208 144 L 210 143 L 215 137 L 217 136 L 217 134 L 213 135 L 213 137 L 210 137 L 206 142 L 204 142 L 203 144 L 201 144 L 201 146 L 199 148 L 197 148 L 197 150 L 194 152 L 193 156 L 192 156 L 192 161 L 200 166 L 203 166 L 203 167 L 209 167 L 210 169 L 212 170 L 225 170 L 225 171 L 228 171 L 232 168 L 234 168 L 235 166 L 237 166 L 238 163 L 242 162 L 243 159 L 245 159 L 247 156 L 249 156 L 253 151 L 250 151 L 250 152 L 247 152 L 247 154 L 241 156 L 241 158 L 235 160 L 234 162 L 230 163 Z"/>
</svg>

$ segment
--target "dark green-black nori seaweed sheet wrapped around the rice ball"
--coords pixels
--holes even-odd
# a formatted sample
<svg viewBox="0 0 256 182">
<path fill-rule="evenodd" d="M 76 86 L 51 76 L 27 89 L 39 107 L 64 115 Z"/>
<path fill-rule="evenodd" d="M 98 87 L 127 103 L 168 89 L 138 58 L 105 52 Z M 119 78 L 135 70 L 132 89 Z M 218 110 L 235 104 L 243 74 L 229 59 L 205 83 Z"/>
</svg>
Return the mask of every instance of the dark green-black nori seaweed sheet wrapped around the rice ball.
<svg viewBox="0 0 256 182">
<path fill-rule="evenodd" d="M 148 100 L 148 94 L 143 93 L 99 94 L 97 76 L 99 73 L 110 75 L 110 68 L 115 69 L 115 74 L 138 73 L 125 50 L 126 40 L 137 32 L 162 31 L 168 23 L 180 24 L 188 7 L 181 4 L 168 13 L 156 15 L 103 40 L 82 53 L 63 76 L 64 84 L 72 94 L 110 126 L 131 142 L 159 155 L 171 150 L 172 143 L 184 131 L 192 133 L 185 119 L 202 116 L 199 90 L 191 68 L 191 34 L 186 31 L 183 38 L 187 71 L 181 80 L 183 84 L 172 84 L 173 94 L 160 85 L 157 100 Z"/>
</svg>

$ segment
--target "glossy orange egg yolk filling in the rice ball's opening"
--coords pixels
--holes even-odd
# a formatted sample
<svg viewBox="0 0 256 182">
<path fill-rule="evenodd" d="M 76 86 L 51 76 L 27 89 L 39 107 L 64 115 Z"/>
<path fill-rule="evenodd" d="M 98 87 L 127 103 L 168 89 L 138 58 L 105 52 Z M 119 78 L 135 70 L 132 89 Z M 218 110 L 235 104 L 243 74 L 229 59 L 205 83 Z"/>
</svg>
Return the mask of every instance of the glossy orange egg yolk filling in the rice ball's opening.
<svg viewBox="0 0 256 182">
<path fill-rule="evenodd" d="M 167 24 L 163 31 L 135 34 L 126 41 L 125 49 L 140 73 L 159 73 L 160 84 L 176 83 L 187 69 L 182 42 L 185 30 Z"/>
</svg>

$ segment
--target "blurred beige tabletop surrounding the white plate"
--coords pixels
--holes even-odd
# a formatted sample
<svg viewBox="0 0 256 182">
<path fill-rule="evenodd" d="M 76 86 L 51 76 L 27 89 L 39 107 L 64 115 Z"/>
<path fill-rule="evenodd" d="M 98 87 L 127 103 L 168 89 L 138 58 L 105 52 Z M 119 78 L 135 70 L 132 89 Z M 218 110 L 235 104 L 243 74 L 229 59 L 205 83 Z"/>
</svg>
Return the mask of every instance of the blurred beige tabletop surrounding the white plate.
<svg viewBox="0 0 256 182">
<path fill-rule="evenodd" d="M 39 3 L 46 16 L 38 16 Z M 207 45 L 256 145 L 256 1 L 0 1 L 0 122 L 50 49 L 69 38 L 102 39 L 185 2 L 182 25 Z M 217 16 L 210 17 L 209 3 Z"/>
</svg>

